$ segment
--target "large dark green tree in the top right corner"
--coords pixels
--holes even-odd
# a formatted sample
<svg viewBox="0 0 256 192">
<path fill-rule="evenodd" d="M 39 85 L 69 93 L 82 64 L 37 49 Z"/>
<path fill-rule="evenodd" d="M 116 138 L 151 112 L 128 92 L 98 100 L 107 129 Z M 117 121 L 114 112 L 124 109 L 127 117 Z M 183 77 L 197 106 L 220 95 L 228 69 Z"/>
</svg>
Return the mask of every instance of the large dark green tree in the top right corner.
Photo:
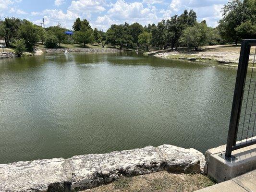
<svg viewBox="0 0 256 192">
<path fill-rule="evenodd" d="M 235 42 L 236 45 L 241 38 L 253 36 L 253 34 L 242 32 L 243 28 L 239 28 L 241 24 L 242 27 L 249 28 L 256 25 L 255 0 L 230 0 L 224 5 L 222 19 L 219 21 L 218 26 L 221 36 L 228 42 Z"/>
</svg>

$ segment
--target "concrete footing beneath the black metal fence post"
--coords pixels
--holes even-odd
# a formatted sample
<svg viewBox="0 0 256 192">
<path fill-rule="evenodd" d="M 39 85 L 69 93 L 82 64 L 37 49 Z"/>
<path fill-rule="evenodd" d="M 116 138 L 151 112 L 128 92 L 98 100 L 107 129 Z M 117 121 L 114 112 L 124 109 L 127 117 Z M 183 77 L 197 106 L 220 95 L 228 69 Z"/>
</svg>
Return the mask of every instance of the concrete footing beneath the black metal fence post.
<svg viewBox="0 0 256 192">
<path fill-rule="evenodd" d="M 225 159 L 226 145 L 206 152 L 205 172 L 207 176 L 223 182 L 256 169 L 256 144 L 232 152 L 231 161 Z"/>
</svg>

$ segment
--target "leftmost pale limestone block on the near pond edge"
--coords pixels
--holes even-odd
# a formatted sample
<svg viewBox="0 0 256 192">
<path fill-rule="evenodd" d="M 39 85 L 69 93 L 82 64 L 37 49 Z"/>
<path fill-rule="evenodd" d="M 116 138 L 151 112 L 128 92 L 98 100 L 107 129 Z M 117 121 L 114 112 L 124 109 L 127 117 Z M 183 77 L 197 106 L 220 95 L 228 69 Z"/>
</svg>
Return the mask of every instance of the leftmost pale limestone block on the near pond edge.
<svg viewBox="0 0 256 192">
<path fill-rule="evenodd" d="M 64 192 L 70 170 L 63 158 L 0 164 L 0 192 Z"/>
</svg>

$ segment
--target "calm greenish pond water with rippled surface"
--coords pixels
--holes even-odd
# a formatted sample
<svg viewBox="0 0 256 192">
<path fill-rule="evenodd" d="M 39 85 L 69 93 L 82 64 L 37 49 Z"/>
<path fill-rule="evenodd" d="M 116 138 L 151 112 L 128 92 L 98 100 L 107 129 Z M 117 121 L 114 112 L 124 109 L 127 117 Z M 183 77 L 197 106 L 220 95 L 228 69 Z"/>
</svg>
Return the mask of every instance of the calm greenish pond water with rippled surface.
<svg viewBox="0 0 256 192">
<path fill-rule="evenodd" d="M 61 53 L 0 60 L 0 163 L 225 144 L 236 69 Z"/>
</svg>

